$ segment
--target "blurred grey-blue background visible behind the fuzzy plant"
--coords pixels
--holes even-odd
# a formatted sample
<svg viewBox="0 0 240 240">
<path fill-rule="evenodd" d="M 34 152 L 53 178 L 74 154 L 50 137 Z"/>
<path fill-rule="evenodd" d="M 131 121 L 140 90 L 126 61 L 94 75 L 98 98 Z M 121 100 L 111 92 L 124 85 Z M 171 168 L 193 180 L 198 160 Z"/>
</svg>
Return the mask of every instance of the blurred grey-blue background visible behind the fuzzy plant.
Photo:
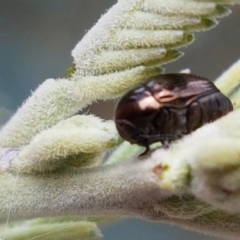
<svg viewBox="0 0 240 240">
<path fill-rule="evenodd" d="M 66 76 L 71 50 L 115 0 L 0 0 L 0 123 L 46 78 Z M 197 33 L 196 41 L 166 72 L 190 68 L 215 79 L 240 58 L 240 6 L 215 29 Z M 97 106 L 97 107 L 96 107 Z M 107 119 L 114 103 L 100 102 L 90 110 Z M 10 219 L 11 220 L 11 219 Z M 178 227 L 141 220 L 125 220 L 104 227 L 104 240 L 217 239 Z"/>
</svg>

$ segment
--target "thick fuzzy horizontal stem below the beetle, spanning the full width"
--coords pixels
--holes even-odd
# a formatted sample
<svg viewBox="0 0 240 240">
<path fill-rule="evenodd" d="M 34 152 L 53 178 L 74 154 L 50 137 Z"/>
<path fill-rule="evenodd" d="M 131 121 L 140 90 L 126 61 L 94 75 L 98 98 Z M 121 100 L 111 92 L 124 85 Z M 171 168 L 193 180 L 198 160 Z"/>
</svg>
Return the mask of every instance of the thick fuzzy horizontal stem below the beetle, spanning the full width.
<svg viewBox="0 0 240 240">
<path fill-rule="evenodd" d="M 238 239 L 240 217 L 160 188 L 161 160 L 65 173 L 0 176 L 0 221 L 53 216 L 120 216 L 166 222 Z"/>
</svg>

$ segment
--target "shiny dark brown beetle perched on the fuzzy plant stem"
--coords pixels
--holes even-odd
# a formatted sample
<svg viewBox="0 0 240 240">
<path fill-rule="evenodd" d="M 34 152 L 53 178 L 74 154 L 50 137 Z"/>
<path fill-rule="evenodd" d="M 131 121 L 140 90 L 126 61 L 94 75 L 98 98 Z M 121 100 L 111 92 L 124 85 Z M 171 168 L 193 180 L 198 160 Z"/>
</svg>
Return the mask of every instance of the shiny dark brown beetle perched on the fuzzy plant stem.
<svg viewBox="0 0 240 240">
<path fill-rule="evenodd" d="M 163 74 L 128 92 L 118 102 L 120 136 L 140 146 L 164 147 L 233 110 L 231 101 L 210 80 L 192 74 Z"/>
</svg>

